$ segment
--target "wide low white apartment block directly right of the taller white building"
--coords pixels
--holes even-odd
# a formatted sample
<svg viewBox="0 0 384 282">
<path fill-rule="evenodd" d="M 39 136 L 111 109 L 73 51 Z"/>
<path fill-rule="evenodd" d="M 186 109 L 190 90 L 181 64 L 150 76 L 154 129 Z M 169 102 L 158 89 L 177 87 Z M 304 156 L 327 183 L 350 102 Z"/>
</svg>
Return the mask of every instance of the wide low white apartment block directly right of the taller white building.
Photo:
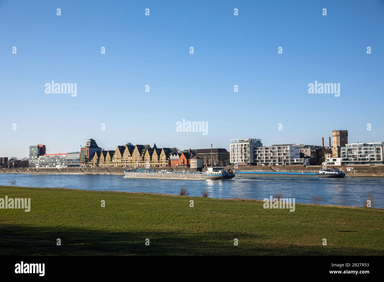
<svg viewBox="0 0 384 282">
<path fill-rule="evenodd" d="M 310 158 L 300 158 L 298 145 L 282 144 L 253 150 L 254 165 L 309 165 Z"/>
</svg>

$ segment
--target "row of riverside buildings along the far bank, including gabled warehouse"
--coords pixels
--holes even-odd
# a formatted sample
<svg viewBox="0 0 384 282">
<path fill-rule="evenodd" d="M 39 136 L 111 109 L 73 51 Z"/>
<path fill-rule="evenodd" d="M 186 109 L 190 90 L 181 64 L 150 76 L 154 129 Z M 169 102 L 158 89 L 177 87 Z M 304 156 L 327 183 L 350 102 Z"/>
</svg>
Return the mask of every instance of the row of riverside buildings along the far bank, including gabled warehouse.
<svg viewBox="0 0 384 282">
<path fill-rule="evenodd" d="M 29 147 L 29 166 L 48 167 L 166 167 L 200 168 L 210 165 L 383 165 L 384 142 L 348 143 L 348 130 L 333 130 L 329 146 L 278 144 L 263 146 L 261 139 L 230 140 L 230 151 L 225 148 L 178 150 L 150 145 L 118 145 L 116 150 L 104 150 L 94 139 L 89 139 L 80 151 L 46 153 L 42 144 Z M 333 146 L 331 146 L 333 144 Z M 320 156 L 322 153 L 322 156 Z M 214 157 L 215 156 L 215 157 Z M 3 158 L 4 159 L 4 158 Z"/>
</svg>

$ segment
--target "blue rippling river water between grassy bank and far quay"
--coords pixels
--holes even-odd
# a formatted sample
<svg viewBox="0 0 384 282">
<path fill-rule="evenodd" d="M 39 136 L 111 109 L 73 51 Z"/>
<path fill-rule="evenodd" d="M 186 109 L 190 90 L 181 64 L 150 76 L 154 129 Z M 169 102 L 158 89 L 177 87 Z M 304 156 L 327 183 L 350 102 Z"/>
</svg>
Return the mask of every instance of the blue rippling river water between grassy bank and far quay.
<svg viewBox="0 0 384 282">
<path fill-rule="evenodd" d="M 362 206 L 372 192 L 376 208 L 384 208 L 384 177 L 344 178 L 262 178 L 260 180 L 163 180 L 128 179 L 124 175 L 108 174 L 0 174 L 0 185 L 60 187 L 98 191 L 145 192 L 177 195 L 185 188 L 189 196 L 201 196 L 207 190 L 211 198 L 264 199 L 280 192 L 283 198 L 295 198 L 296 203 L 313 203 L 321 196 L 321 204 Z M 1 189 L 0 189 L 0 196 Z"/>
</svg>

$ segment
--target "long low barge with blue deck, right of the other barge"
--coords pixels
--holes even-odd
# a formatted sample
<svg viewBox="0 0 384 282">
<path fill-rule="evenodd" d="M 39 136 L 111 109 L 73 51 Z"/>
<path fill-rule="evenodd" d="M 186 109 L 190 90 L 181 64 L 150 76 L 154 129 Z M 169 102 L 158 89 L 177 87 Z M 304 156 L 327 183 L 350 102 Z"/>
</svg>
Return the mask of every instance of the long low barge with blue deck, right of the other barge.
<svg viewBox="0 0 384 282">
<path fill-rule="evenodd" d="M 321 169 L 319 172 L 235 172 L 236 178 L 253 179 L 260 177 L 310 177 L 310 178 L 342 178 L 344 172 Z"/>
</svg>

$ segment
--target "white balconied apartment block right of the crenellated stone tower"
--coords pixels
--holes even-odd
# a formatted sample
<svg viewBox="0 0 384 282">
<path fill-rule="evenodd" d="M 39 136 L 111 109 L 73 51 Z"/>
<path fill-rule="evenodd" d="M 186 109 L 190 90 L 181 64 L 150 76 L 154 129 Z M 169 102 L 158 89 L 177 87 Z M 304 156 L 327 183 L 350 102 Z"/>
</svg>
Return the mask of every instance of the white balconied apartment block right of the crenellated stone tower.
<svg viewBox="0 0 384 282">
<path fill-rule="evenodd" d="M 384 142 L 351 143 L 341 147 L 341 165 L 383 165 Z"/>
</svg>

